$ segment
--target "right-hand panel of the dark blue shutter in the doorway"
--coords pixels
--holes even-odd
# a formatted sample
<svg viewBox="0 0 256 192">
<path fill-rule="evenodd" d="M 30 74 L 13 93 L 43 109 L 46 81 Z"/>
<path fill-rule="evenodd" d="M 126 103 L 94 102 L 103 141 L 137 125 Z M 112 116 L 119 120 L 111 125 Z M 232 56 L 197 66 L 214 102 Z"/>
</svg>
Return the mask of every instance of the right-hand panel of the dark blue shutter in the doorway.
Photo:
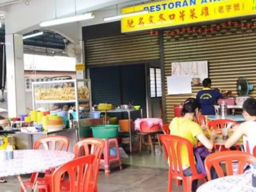
<svg viewBox="0 0 256 192">
<path fill-rule="evenodd" d="M 145 64 L 140 65 L 124 65 L 121 67 L 122 82 L 122 104 L 140 105 L 143 115 L 146 116 L 146 74 Z M 140 118 L 140 111 L 132 112 L 131 119 Z M 128 118 L 124 114 L 124 118 Z"/>
</svg>

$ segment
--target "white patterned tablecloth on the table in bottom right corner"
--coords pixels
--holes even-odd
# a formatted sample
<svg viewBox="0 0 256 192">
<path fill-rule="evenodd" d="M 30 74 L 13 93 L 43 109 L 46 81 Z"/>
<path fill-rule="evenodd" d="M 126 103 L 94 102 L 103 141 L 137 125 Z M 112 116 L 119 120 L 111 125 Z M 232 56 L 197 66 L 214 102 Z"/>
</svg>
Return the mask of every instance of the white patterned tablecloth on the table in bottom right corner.
<svg viewBox="0 0 256 192">
<path fill-rule="evenodd" d="M 256 192 L 252 186 L 252 174 L 233 175 L 206 182 L 196 192 Z"/>
</svg>

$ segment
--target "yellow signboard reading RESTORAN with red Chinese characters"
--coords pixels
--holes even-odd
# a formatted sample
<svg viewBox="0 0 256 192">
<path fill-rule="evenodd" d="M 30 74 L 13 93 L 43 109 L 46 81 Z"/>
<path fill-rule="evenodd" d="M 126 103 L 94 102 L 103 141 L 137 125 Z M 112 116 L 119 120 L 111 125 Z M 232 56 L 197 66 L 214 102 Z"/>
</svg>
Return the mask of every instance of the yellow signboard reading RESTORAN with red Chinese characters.
<svg viewBox="0 0 256 192">
<path fill-rule="evenodd" d="M 122 18 L 122 32 L 133 32 L 256 14 L 256 0 L 166 0 L 122 9 L 122 14 L 149 13 Z"/>
</svg>

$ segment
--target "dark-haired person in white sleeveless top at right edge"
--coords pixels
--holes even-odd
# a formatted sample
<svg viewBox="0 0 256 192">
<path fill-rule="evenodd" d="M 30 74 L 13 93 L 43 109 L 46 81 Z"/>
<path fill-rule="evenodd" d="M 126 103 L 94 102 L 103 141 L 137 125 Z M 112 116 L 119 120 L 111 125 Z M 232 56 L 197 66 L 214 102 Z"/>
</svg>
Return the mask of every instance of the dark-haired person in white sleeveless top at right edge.
<svg viewBox="0 0 256 192">
<path fill-rule="evenodd" d="M 242 115 L 246 122 L 234 126 L 234 134 L 228 138 L 225 147 L 230 148 L 243 136 L 245 151 L 253 155 L 256 146 L 256 99 L 248 98 L 244 101 Z"/>
</svg>

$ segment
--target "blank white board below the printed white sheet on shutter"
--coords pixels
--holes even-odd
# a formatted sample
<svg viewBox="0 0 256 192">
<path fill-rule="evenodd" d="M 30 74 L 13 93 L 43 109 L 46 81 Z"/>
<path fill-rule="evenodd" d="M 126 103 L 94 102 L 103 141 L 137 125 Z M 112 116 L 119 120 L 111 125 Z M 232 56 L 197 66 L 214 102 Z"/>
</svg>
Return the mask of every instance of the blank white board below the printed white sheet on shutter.
<svg viewBox="0 0 256 192">
<path fill-rule="evenodd" d="M 191 94 L 191 75 L 167 76 L 168 95 Z"/>
</svg>

